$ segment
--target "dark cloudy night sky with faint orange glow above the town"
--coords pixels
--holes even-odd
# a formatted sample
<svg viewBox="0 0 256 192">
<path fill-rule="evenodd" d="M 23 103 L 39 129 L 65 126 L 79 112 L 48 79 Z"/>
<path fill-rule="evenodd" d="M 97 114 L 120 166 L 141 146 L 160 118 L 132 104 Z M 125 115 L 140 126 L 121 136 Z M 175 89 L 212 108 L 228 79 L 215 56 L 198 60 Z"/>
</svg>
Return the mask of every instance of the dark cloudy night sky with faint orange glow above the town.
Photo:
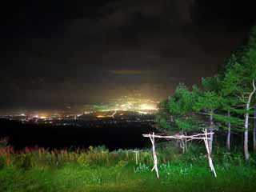
<svg viewBox="0 0 256 192">
<path fill-rule="evenodd" d="M 256 18 L 234 0 L 23 0 L 0 12 L 0 110 L 161 100 L 215 74 Z"/>
</svg>

